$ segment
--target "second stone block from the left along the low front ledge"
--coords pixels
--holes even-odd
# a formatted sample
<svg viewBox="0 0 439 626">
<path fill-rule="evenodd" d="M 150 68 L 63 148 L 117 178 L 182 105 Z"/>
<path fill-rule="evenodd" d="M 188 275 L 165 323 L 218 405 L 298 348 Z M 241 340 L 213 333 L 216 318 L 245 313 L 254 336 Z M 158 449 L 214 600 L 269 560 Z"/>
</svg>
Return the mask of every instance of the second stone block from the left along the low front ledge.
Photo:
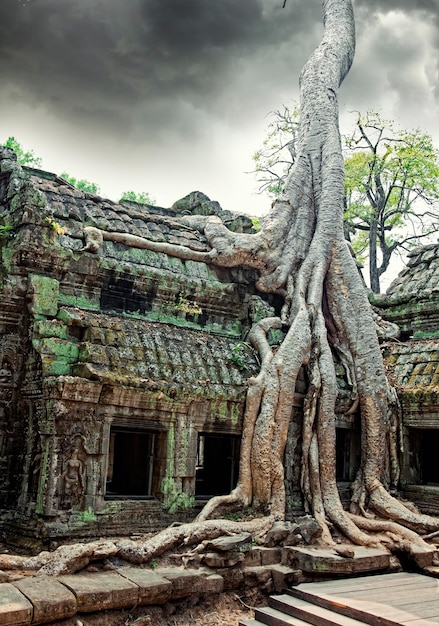
<svg viewBox="0 0 439 626">
<path fill-rule="evenodd" d="M 75 596 L 56 578 L 32 576 L 13 584 L 34 607 L 32 624 L 47 624 L 76 613 Z"/>
</svg>

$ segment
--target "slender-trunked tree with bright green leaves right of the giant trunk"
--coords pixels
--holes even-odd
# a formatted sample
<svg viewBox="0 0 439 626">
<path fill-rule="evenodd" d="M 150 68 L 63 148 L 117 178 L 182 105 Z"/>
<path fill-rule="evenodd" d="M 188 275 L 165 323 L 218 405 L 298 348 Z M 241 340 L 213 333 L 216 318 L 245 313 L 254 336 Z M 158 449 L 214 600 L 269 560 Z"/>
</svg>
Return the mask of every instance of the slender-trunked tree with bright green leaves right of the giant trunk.
<svg viewBox="0 0 439 626">
<path fill-rule="evenodd" d="M 392 254 L 437 231 L 439 152 L 427 133 L 396 128 L 375 111 L 358 114 L 344 141 L 345 230 L 360 256 L 367 251 L 378 293 Z"/>
</svg>

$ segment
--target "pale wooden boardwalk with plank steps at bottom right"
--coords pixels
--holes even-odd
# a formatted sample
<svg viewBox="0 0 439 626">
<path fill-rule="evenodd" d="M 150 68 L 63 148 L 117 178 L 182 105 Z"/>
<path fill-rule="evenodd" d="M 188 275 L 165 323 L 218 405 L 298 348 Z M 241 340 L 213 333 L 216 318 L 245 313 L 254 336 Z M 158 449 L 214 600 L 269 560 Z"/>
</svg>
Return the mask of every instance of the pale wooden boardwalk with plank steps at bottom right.
<svg viewBox="0 0 439 626">
<path fill-rule="evenodd" d="M 242 626 L 439 626 L 439 580 L 397 573 L 305 583 Z"/>
</svg>

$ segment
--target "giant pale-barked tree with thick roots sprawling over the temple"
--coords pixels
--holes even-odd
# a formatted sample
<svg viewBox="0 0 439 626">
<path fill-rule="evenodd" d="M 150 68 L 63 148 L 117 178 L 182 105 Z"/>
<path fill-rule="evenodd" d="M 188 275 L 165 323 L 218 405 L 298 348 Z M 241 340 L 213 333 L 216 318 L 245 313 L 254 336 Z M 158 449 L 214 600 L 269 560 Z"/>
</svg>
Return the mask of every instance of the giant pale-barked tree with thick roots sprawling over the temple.
<svg viewBox="0 0 439 626">
<path fill-rule="evenodd" d="M 323 18 L 323 39 L 300 76 L 302 114 L 294 166 L 257 234 L 233 233 L 213 216 L 182 217 L 203 229 L 210 242 L 210 252 L 197 253 L 129 234 L 86 230 L 94 238 L 90 250 L 99 245 L 100 236 L 155 250 L 162 246 L 167 254 L 182 258 L 255 268 L 258 289 L 278 294 L 284 303 L 280 317 L 262 319 L 250 331 L 261 368 L 249 380 L 236 488 L 211 499 L 192 524 L 166 529 L 140 546 L 108 544 L 108 550 L 118 550 L 124 558 L 148 561 L 177 541 L 198 541 L 236 529 L 237 524 L 228 520 L 209 519 L 220 516 L 224 507 L 252 505 L 263 512 L 250 523 L 253 529 L 267 529 L 274 519 L 284 519 L 283 460 L 302 367 L 308 391 L 301 487 L 305 507 L 321 525 L 323 537 L 331 542 L 331 527 L 336 526 L 356 544 L 376 544 L 387 533 L 385 541 L 401 547 L 422 543 L 417 533 L 439 528 L 439 520 L 413 512 L 386 489 L 386 461 L 392 468 L 396 460 L 390 436 L 390 388 L 374 316 L 343 233 L 344 162 L 337 99 L 354 55 L 351 0 L 323 0 Z M 274 327 L 285 332 L 277 349 L 267 341 Z M 361 463 L 349 511 L 342 506 L 336 484 L 335 361 L 343 364 L 350 381 L 350 410 L 358 410 L 361 419 Z M 87 549 L 90 552 L 81 548 L 81 555 Z M 100 555 L 103 549 L 101 544 Z M 47 563 L 41 571 L 62 571 L 51 567 Z"/>
</svg>

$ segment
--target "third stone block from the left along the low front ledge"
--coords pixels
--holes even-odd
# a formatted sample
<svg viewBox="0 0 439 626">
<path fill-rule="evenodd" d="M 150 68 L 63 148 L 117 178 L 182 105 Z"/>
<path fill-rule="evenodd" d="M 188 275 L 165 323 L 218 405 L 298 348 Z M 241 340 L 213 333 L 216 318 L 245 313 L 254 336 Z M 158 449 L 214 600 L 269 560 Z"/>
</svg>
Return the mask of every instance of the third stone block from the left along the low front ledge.
<svg viewBox="0 0 439 626">
<path fill-rule="evenodd" d="M 78 612 L 123 609 L 138 603 L 139 587 L 116 572 L 74 574 L 58 580 L 75 594 Z"/>
</svg>

